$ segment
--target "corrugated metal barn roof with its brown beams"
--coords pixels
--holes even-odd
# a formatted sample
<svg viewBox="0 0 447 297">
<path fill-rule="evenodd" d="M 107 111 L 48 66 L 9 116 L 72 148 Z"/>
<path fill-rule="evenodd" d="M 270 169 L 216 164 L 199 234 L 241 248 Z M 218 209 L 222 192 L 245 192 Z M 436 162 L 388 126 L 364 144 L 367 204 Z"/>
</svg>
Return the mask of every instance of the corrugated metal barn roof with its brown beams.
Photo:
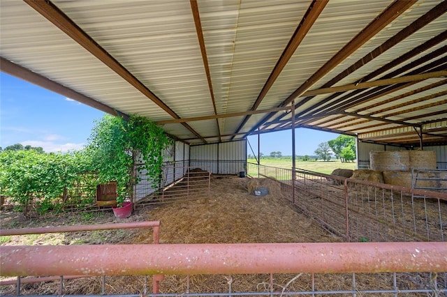
<svg viewBox="0 0 447 297">
<path fill-rule="evenodd" d="M 447 3 L 413 2 L 0 0 L 1 70 L 189 144 L 290 129 L 292 100 L 298 127 L 446 144 Z"/>
</svg>

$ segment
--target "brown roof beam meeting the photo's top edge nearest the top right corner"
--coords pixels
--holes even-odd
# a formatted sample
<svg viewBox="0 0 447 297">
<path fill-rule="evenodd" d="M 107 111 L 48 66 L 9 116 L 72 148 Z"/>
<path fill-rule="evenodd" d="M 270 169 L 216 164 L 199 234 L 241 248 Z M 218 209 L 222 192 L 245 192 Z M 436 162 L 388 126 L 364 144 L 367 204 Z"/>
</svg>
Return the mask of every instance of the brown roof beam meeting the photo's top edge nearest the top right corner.
<svg viewBox="0 0 447 297">
<path fill-rule="evenodd" d="M 319 79 L 321 79 L 324 75 L 328 74 L 330 70 L 335 68 L 339 63 L 344 61 L 349 55 L 353 54 L 353 52 L 356 52 L 362 45 L 364 45 L 369 39 L 374 37 L 376 33 L 379 33 L 381 29 L 383 29 L 385 26 L 393 22 L 396 17 L 404 13 L 404 11 L 408 8 L 410 8 L 414 3 L 416 3 L 416 0 L 411 1 L 394 1 L 386 10 L 384 10 L 378 17 L 376 17 L 372 22 L 370 22 L 365 29 L 360 31 L 349 43 L 347 43 L 337 54 L 332 56 L 332 58 L 327 61 L 320 69 L 314 73 L 309 79 L 306 80 L 304 84 L 302 84 L 298 89 L 296 89 L 293 93 L 291 93 L 284 102 L 281 103 L 280 106 L 288 105 L 292 100 L 295 100 L 295 98 L 298 98 L 299 96 L 302 96 L 302 93 L 305 93 L 307 89 L 309 89 L 312 85 L 314 85 L 316 82 L 318 82 Z M 298 105 L 302 105 L 305 102 L 307 102 L 310 99 L 301 100 L 298 102 Z M 268 121 L 272 116 L 274 116 L 274 113 L 270 113 L 267 116 L 264 117 L 261 121 L 258 122 L 254 126 L 254 128 L 251 128 L 250 132 L 256 130 L 258 127 L 260 127 L 265 121 Z"/>
</svg>

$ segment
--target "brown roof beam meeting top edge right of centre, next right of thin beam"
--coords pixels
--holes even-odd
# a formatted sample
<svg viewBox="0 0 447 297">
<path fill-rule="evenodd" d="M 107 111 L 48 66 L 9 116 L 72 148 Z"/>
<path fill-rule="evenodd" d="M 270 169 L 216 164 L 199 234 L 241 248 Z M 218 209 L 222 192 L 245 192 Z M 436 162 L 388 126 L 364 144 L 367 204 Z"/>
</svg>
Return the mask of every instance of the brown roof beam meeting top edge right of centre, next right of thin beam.
<svg viewBox="0 0 447 297">
<path fill-rule="evenodd" d="M 259 93 L 258 98 L 256 98 L 256 101 L 254 102 L 254 105 L 251 107 L 250 109 L 251 111 L 256 110 L 259 107 L 259 105 L 261 105 L 262 100 L 267 95 L 268 91 L 278 78 L 281 71 L 287 65 L 288 60 L 291 59 L 291 57 L 295 53 L 295 50 L 298 48 L 302 40 L 309 32 L 309 30 L 312 28 L 314 22 L 316 22 L 318 16 L 321 14 L 327 3 L 328 3 L 327 0 L 312 1 L 309 8 L 307 9 L 307 12 L 302 17 L 300 24 L 298 24 L 298 27 L 295 29 L 295 33 L 293 33 L 291 40 L 289 40 L 286 48 L 279 57 L 279 60 L 277 61 L 277 64 L 274 66 L 272 73 L 270 73 L 267 82 L 265 82 L 263 89 L 261 90 L 261 93 Z M 245 123 L 247 123 L 249 119 L 250 116 L 246 116 L 244 120 L 242 120 L 242 123 L 240 123 L 239 127 L 236 129 L 236 133 L 242 129 L 242 127 L 245 125 Z"/>
</svg>

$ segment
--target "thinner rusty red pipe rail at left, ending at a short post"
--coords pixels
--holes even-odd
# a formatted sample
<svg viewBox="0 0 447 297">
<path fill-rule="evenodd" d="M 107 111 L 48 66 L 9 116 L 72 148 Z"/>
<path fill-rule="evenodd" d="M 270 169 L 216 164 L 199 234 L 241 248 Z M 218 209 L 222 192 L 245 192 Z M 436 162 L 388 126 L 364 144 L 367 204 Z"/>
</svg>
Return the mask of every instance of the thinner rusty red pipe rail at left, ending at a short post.
<svg viewBox="0 0 447 297">
<path fill-rule="evenodd" d="M 152 222 L 126 222 L 126 223 L 108 223 L 108 224 L 81 224 L 75 226 L 60 226 L 60 227 L 0 229 L 0 236 L 95 231 L 95 230 L 110 230 L 110 229 L 131 229 L 131 228 L 146 228 L 146 227 L 159 227 L 159 226 L 160 221 L 152 221 Z"/>
</svg>

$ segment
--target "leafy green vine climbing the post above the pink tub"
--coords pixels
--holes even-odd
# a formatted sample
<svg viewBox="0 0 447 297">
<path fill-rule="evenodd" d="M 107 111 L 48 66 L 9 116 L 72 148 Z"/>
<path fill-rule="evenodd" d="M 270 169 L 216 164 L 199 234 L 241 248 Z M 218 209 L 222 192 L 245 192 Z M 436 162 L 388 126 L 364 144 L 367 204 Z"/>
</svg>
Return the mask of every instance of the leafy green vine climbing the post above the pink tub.
<svg viewBox="0 0 447 297">
<path fill-rule="evenodd" d="M 163 130 L 143 116 L 128 121 L 106 115 L 91 130 L 87 152 L 101 182 L 117 181 L 117 203 L 132 195 L 140 182 L 138 173 L 147 172 L 147 180 L 157 188 L 162 175 L 163 153 L 172 144 Z M 141 164 L 141 166 L 136 166 Z"/>
</svg>

